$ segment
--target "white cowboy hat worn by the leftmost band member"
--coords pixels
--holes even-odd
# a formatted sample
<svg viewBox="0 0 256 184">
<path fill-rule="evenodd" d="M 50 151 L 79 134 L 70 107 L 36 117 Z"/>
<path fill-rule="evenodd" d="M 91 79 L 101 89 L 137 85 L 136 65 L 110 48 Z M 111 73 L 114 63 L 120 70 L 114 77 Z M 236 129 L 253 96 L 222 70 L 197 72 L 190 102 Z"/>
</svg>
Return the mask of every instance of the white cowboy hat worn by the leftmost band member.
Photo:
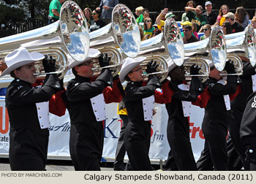
<svg viewBox="0 0 256 184">
<path fill-rule="evenodd" d="M 10 74 L 15 69 L 18 69 L 20 66 L 24 66 L 26 64 L 31 64 L 34 61 L 39 61 L 45 58 L 42 53 L 29 53 L 25 47 L 19 47 L 18 49 L 12 51 L 7 56 L 5 56 L 4 61 L 7 64 L 7 69 L 1 73 L 1 77 Z"/>
</svg>

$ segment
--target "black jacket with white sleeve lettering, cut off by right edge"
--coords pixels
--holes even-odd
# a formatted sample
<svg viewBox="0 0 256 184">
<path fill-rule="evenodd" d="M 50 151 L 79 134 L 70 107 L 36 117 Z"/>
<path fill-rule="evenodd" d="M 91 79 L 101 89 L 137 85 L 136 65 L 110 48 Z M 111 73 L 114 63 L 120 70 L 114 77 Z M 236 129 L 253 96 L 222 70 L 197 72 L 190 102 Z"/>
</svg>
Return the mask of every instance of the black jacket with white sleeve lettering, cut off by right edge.
<svg viewBox="0 0 256 184">
<path fill-rule="evenodd" d="M 247 101 L 240 126 L 240 137 L 243 144 L 256 147 L 256 92 Z"/>
</svg>

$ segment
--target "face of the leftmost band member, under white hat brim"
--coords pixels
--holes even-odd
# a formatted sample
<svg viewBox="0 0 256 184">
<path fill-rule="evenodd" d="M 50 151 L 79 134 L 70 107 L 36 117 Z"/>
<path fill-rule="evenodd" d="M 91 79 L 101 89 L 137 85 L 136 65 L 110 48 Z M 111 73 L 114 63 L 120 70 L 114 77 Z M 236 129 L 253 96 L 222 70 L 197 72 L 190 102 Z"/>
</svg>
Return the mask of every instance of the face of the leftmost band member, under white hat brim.
<svg viewBox="0 0 256 184">
<path fill-rule="evenodd" d="M 16 77 L 31 84 L 35 83 L 37 80 L 37 77 L 34 76 L 35 72 L 36 68 L 34 67 L 34 63 L 26 64 L 24 66 L 21 66 L 20 69 L 14 70 L 14 74 L 16 75 Z"/>
</svg>

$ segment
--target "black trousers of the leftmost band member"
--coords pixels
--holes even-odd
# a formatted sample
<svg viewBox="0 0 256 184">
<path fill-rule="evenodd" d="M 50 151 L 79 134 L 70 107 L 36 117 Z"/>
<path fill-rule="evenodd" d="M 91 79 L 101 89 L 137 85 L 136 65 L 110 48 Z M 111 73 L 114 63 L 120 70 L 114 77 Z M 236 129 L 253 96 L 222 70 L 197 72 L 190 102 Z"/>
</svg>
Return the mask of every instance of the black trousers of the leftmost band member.
<svg viewBox="0 0 256 184">
<path fill-rule="evenodd" d="M 44 171 L 48 129 L 10 129 L 9 160 L 12 171 Z"/>
</svg>

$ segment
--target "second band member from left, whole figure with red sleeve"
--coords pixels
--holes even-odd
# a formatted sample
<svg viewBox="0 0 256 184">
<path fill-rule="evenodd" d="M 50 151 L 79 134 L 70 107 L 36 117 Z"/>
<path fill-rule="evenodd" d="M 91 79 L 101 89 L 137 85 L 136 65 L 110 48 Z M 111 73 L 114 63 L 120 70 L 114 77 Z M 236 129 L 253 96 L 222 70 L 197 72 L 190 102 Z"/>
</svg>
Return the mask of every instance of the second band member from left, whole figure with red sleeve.
<svg viewBox="0 0 256 184">
<path fill-rule="evenodd" d="M 119 102 L 123 88 L 114 80 L 110 69 L 102 69 L 99 77 L 91 82 L 94 72 L 91 59 L 98 58 L 101 67 L 108 66 L 110 57 L 90 49 L 86 60 L 72 61 L 69 69 L 75 74 L 67 84 L 67 109 L 70 116 L 69 150 L 75 170 L 100 170 L 103 150 L 103 125 L 105 103 Z M 110 86 L 113 82 L 113 88 Z"/>
</svg>

